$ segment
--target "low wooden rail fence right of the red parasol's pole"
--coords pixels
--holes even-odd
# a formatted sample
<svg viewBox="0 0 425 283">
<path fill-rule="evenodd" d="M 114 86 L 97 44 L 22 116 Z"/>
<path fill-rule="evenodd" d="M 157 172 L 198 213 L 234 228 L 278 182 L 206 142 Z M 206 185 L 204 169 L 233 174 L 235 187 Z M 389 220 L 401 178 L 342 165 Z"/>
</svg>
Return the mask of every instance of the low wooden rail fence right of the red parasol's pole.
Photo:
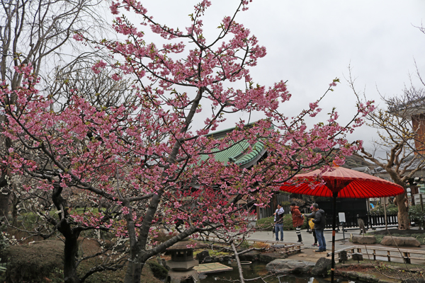
<svg viewBox="0 0 425 283">
<path fill-rule="evenodd" d="M 406 263 L 410 263 L 411 260 L 425 260 L 425 250 L 406 250 L 402 248 L 384 248 L 375 246 L 351 246 L 342 248 L 341 250 L 335 251 L 335 256 L 338 256 L 338 258 L 335 259 L 339 259 L 339 253 L 342 250 L 346 250 L 347 256 L 349 256 L 352 253 L 361 253 L 362 249 L 366 250 L 364 254 L 373 255 L 373 260 L 376 260 L 377 256 L 387 258 L 389 262 L 391 261 L 391 258 L 402 258 Z M 372 253 L 370 253 L 370 250 Z M 377 253 L 377 251 L 382 253 Z M 420 257 L 421 255 L 422 257 Z M 327 253 L 327 256 L 331 256 L 331 253 Z"/>
</svg>

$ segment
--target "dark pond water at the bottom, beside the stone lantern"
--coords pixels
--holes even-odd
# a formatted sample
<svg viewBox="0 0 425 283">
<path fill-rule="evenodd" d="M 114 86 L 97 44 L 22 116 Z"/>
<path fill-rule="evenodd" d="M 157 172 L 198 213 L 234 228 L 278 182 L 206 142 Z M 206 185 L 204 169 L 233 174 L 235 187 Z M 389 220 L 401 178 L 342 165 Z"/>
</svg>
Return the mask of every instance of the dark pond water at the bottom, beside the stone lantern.
<svg viewBox="0 0 425 283">
<path fill-rule="evenodd" d="M 225 263 L 228 266 L 232 266 L 229 263 Z M 249 283 L 329 283 L 329 278 L 323 277 L 311 277 L 308 275 L 270 275 L 266 270 L 266 264 L 263 262 L 253 262 L 250 265 L 242 265 L 244 270 L 244 278 L 252 279 L 256 277 L 263 277 L 263 279 L 257 279 L 249 281 Z M 237 267 L 233 270 L 220 273 L 210 273 L 205 276 L 200 276 L 200 283 L 218 283 L 218 282 L 239 282 L 239 272 Z M 355 283 L 347 279 L 336 278 L 335 282 L 339 283 Z"/>
</svg>

